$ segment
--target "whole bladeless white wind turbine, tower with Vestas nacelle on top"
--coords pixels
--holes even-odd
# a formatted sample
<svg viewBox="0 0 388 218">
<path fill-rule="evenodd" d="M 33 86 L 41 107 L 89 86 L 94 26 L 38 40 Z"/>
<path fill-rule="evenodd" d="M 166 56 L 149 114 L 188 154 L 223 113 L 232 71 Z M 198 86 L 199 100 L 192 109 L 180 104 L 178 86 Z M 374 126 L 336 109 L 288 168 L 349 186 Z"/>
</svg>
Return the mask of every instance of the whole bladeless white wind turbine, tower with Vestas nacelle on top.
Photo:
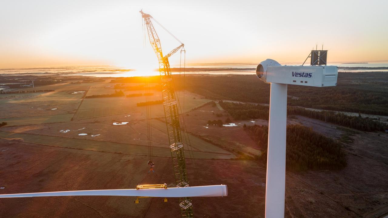
<svg viewBox="0 0 388 218">
<path fill-rule="evenodd" d="M 315 51 L 314 51 L 315 52 Z M 322 52 L 326 64 L 326 52 Z M 319 64 L 316 64 L 319 65 Z M 337 85 L 337 66 L 282 66 L 267 59 L 256 68 L 260 80 L 271 84 L 268 124 L 265 217 L 284 218 L 286 187 L 287 85 L 328 87 Z"/>
</svg>

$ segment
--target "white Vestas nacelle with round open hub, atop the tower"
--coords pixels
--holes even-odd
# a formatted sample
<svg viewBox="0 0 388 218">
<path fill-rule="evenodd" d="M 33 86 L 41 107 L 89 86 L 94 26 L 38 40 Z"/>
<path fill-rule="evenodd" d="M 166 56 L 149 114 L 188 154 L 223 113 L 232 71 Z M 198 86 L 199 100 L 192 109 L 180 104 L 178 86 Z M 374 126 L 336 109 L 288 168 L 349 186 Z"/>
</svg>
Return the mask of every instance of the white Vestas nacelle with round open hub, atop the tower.
<svg viewBox="0 0 388 218">
<path fill-rule="evenodd" d="M 282 66 L 267 59 L 256 68 L 256 76 L 266 83 L 282 83 L 313 87 L 336 86 L 337 66 Z"/>
</svg>

